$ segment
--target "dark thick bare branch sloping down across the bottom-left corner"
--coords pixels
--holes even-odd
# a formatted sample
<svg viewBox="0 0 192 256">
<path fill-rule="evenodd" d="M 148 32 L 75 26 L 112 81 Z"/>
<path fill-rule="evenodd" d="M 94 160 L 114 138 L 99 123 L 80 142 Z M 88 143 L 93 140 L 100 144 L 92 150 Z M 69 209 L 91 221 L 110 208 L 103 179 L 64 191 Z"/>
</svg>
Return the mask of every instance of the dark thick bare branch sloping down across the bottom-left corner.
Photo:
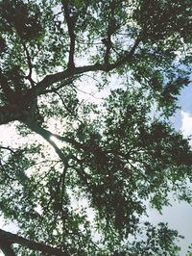
<svg viewBox="0 0 192 256">
<path fill-rule="evenodd" d="M 62 252 L 60 249 L 52 247 L 50 245 L 46 245 L 44 243 L 36 243 L 34 241 L 25 239 L 23 237 L 14 235 L 10 232 L 4 231 L 0 229 L 0 243 L 1 249 L 4 251 L 3 245 L 2 244 L 12 244 L 12 243 L 18 243 L 22 246 L 26 246 L 32 250 L 38 250 L 43 253 L 47 253 L 48 255 L 57 255 L 57 256 L 68 256 L 69 254 L 66 252 Z M 8 249 L 8 248 L 7 248 Z M 11 252 L 11 251 L 10 251 Z M 6 256 L 15 256 L 15 254 L 12 251 L 12 254 L 6 254 Z"/>
</svg>

